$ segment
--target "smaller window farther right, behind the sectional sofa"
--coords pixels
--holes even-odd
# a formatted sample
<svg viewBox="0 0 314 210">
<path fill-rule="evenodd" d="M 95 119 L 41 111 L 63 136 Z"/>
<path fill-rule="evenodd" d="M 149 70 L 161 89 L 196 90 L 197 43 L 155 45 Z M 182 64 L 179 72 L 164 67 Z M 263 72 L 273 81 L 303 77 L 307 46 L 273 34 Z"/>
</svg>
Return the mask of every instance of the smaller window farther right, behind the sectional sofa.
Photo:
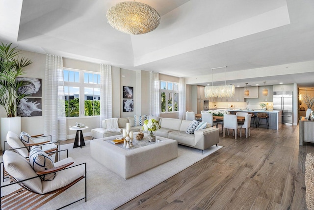
<svg viewBox="0 0 314 210">
<path fill-rule="evenodd" d="M 159 81 L 161 113 L 178 112 L 179 84 L 174 82 Z"/>
</svg>

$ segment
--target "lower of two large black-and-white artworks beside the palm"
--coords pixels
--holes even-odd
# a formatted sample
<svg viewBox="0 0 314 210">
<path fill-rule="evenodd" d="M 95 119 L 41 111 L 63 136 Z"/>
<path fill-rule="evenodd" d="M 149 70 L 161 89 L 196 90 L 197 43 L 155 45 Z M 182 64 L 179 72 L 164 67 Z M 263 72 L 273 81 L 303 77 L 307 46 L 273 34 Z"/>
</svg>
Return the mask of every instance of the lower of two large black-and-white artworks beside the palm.
<svg viewBox="0 0 314 210">
<path fill-rule="evenodd" d="M 41 98 L 22 98 L 17 104 L 17 116 L 42 116 Z"/>
</svg>

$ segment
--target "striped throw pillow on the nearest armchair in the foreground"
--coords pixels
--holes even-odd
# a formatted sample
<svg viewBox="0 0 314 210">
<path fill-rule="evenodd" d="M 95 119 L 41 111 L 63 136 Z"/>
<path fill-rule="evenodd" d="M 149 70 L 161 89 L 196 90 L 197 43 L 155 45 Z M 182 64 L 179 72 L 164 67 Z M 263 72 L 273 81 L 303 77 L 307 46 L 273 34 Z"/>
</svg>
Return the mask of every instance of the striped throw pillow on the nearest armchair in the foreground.
<svg viewBox="0 0 314 210">
<path fill-rule="evenodd" d="M 50 159 L 46 152 L 36 146 L 31 147 L 29 152 L 29 163 L 35 172 L 54 168 L 52 159 Z M 55 172 L 40 176 L 44 181 L 53 180 L 54 177 Z"/>
</svg>

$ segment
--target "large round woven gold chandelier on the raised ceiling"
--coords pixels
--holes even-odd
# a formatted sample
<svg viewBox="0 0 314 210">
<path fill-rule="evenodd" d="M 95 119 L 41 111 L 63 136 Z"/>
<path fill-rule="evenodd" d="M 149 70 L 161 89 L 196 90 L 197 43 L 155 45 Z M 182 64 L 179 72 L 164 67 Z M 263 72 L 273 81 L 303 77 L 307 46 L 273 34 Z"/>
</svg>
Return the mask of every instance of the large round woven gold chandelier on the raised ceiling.
<svg viewBox="0 0 314 210">
<path fill-rule="evenodd" d="M 155 30 L 160 23 L 160 15 L 154 8 L 135 0 L 110 7 L 106 17 L 111 27 L 133 35 Z"/>
</svg>

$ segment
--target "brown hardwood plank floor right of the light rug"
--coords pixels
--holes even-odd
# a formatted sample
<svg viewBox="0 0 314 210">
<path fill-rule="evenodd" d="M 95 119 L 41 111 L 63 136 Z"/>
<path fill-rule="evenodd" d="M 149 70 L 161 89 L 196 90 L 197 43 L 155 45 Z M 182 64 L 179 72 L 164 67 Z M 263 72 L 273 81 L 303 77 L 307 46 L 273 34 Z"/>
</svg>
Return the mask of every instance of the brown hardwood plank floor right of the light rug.
<svg viewBox="0 0 314 210">
<path fill-rule="evenodd" d="M 219 141 L 222 149 L 118 209 L 307 209 L 305 157 L 314 144 L 299 146 L 298 126 L 252 127 L 237 140 L 220 132 Z"/>
</svg>

